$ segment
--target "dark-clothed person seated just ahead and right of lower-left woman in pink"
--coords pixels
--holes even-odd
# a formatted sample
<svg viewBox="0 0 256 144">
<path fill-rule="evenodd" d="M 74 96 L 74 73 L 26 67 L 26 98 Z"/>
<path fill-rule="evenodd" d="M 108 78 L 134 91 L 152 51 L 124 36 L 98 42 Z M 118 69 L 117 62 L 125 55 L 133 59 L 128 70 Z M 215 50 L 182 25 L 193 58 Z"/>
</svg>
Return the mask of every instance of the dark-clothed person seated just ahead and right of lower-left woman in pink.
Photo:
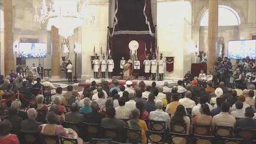
<svg viewBox="0 0 256 144">
<path fill-rule="evenodd" d="M 78 113 L 78 105 L 76 103 L 71 104 L 69 108 L 71 112 L 65 114 L 65 121 L 72 123 L 81 123 L 84 121 L 84 116 Z"/>
</svg>

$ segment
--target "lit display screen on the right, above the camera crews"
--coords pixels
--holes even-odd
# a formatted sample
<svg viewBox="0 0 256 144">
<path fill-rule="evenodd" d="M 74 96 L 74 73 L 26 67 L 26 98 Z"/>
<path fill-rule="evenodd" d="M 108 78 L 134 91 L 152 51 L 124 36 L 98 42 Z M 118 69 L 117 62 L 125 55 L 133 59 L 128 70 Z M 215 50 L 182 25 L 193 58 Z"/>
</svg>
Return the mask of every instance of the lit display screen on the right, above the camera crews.
<svg viewBox="0 0 256 144">
<path fill-rule="evenodd" d="M 228 41 L 229 59 L 256 59 L 256 40 L 231 40 Z"/>
</svg>

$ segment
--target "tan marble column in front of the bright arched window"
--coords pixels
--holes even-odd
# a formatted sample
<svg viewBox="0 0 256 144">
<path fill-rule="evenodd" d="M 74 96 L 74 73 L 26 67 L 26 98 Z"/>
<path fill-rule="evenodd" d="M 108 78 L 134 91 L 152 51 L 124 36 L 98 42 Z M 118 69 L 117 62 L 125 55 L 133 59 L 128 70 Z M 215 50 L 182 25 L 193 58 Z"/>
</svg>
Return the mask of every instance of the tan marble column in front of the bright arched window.
<svg viewBox="0 0 256 144">
<path fill-rule="evenodd" d="M 208 23 L 208 69 L 216 62 L 216 43 L 218 38 L 218 13 L 219 0 L 209 0 L 209 23 Z"/>
</svg>

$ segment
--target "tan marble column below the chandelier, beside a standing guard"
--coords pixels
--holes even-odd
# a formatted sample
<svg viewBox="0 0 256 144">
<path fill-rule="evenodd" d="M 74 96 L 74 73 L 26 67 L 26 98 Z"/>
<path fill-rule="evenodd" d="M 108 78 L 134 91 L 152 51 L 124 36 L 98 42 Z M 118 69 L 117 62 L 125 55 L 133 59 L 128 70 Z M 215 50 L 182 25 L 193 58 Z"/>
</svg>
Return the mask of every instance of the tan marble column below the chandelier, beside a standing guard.
<svg viewBox="0 0 256 144">
<path fill-rule="evenodd" d="M 60 78 L 60 52 L 58 28 L 52 26 L 52 78 Z"/>
</svg>

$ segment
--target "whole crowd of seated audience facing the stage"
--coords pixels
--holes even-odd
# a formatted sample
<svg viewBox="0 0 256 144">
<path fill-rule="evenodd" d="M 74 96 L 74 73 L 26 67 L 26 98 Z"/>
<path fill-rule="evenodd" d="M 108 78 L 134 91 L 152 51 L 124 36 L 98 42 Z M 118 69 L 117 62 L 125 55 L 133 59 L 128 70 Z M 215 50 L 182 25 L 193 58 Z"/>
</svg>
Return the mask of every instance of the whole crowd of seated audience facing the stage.
<svg viewBox="0 0 256 144">
<path fill-rule="evenodd" d="M 171 88 L 143 81 L 133 87 L 115 79 L 113 85 L 92 82 L 82 94 L 72 85 L 63 94 L 58 87 L 49 105 L 43 95 L 24 109 L 18 100 L 10 107 L 1 103 L 0 143 L 28 143 L 24 134 L 33 132 L 39 137 L 30 137 L 34 143 L 255 143 L 255 87 L 249 88 L 226 88 L 223 82 L 218 88 L 184 88 L 181 82 Z"/>
</svg>

